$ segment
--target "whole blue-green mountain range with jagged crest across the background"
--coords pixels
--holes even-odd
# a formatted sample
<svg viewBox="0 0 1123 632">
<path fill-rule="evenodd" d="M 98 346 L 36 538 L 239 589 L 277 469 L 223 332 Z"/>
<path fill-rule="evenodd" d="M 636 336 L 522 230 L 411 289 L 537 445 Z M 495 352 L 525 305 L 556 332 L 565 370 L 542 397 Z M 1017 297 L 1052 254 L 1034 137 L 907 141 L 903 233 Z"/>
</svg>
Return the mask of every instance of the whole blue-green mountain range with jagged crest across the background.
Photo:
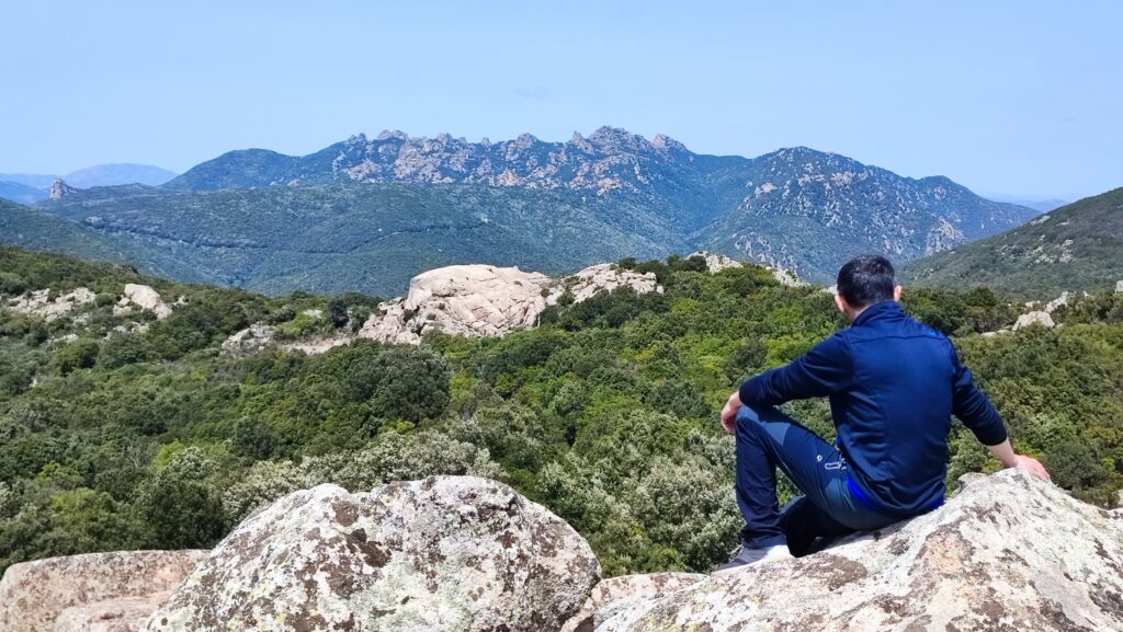
<svg viewBox="0 0 1123 632">
<path fill-rule="evenodd" d="M 161 186 L 77 190 L 35 211 L 109 249 L 140 248 L 129 260 L 146 272 L 381 294 L 451 263 L 562 273 L 700 248 L 825 282 L 858 253 L 907 260 L 1037 214 L 946 177 L 903 177 L 805 147 L 710 156 L 608 127 L 565 143 L 386 131 L 307 156 L 237 150 Z"/>
</svg>

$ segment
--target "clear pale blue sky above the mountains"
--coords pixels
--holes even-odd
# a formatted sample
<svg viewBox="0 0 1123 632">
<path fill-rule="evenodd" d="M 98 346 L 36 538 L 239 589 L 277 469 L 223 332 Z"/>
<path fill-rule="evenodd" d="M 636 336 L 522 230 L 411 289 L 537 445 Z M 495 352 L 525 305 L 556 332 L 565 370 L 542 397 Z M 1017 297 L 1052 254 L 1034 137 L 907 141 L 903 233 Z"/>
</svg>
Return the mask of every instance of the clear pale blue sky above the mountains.
<svg viewBox="0 0 1123 632">
<path fill-rule="evenodd" d="M 1123 2 L 0 0 L 0 172 L 602 125 L 983 193 L 1123 185 Z"/>
</svg>

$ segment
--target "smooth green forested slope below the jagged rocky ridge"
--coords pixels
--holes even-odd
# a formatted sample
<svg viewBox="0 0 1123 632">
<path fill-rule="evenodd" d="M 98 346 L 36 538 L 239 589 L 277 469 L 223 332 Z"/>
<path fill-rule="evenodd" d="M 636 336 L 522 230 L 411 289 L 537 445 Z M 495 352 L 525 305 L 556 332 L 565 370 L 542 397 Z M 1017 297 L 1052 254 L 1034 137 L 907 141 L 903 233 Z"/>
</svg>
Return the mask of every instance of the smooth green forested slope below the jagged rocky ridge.
<svg viewBox="0 0 1123 632">
<path fill-rule="evenodd" d="M 476 185 L 99 187 L 38 209 L 143 249 L 147 258 L 139 267 L 146 272 L 189 265 L 195 278 L 271 293 L 392 295 L 411 276 L 455 263 L 562 273 L 691 247 L 641 205 L 609 208 L 569 191 Z"/>
</svg>

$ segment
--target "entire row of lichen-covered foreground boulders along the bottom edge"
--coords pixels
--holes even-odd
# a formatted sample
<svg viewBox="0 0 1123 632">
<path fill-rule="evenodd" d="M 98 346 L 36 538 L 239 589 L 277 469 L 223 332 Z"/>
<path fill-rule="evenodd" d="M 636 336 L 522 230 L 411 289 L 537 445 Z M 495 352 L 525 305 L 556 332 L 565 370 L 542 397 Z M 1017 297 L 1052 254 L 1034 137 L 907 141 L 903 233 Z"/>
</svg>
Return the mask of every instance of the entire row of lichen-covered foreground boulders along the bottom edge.
<svg viewBox="0 0 1123 632">
<path fill-rule="evenodd" d="M 584 539 L 501 483 L 321 485 L 258 510 L 210 553 L 12 566 L 0 630 L 1123 630 L 1123 510 L 1019 470 L 964 483 L 932 513 L 804 558 L 604 580 Z"/>
</svg>

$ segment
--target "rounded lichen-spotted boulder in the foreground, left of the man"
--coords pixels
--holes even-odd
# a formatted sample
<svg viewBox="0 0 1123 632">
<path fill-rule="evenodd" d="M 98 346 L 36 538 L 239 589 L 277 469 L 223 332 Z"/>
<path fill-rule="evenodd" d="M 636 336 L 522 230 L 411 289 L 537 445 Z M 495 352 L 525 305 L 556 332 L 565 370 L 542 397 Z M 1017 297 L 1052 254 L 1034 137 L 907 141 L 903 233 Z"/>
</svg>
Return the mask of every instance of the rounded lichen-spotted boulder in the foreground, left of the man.
<svg viewBox="0 0 1123 632">
<path fill-rule="evenodd" d="M 599 574 L 568 524 L 493 480 L 321 485 L 246 519 L 145 630 L 540 632 Z"/>
</svg>

